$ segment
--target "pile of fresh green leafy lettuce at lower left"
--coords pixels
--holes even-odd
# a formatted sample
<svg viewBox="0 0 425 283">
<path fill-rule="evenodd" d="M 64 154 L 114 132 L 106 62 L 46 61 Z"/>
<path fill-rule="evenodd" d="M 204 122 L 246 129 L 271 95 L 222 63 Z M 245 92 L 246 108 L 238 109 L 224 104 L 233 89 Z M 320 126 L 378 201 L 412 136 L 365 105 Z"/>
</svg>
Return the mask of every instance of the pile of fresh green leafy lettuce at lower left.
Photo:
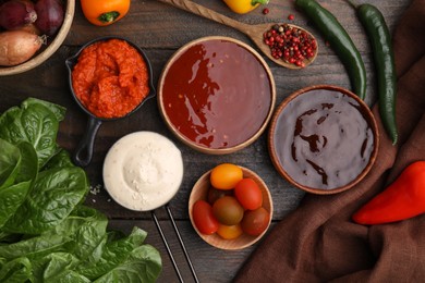
<svg viewBox="0 0 425 283">
<path fill-rule="evenodd" d="M 107 231 L 89 182 L 57 145 L 64 108 L 28 98 L 0 115 L 0 282 L 155 282 L 147 233 Z"/>
</svg>

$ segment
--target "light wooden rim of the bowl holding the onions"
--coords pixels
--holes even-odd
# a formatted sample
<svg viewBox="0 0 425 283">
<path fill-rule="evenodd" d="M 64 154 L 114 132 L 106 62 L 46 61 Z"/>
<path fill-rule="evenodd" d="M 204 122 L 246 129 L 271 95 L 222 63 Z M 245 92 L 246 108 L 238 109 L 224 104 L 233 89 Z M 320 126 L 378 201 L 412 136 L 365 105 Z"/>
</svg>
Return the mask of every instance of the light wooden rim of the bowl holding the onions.
<svg viewBox="0 0 425 283">
<path fill-rule="evenodd" d="M 70 32 L 72 21 L 74 19 L 74 12 L 75 0 L 66 0 L 66 5 L 64 7 L 63 23 L 62 26 L 59 28 L 58 33 L 56 34 L 53 40 L 50 41 L 48 39 L 48 45 L 41 46 L 41 49 L 37 51 L 37 53 L 32 59 L 24 63 L 14 66 L 0 66 L 0 76 L 24 73 L 28 70 L 38 66 L 47 59 L 49 59 L 65 40 L 68 33 Z"/>
</svg>

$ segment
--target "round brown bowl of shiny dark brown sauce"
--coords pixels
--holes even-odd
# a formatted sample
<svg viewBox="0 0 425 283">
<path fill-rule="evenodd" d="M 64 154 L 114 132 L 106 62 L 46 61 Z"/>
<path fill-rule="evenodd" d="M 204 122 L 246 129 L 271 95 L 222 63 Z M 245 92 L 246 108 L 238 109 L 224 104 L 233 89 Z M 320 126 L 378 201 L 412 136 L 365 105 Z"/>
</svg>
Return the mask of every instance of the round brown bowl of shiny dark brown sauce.
<svg viewBox="0 0 425 283">
<path fill-rule="evenodd" d="M 317 85 L 290 95 L 270 123 L 268 150 L 281 176 L 313 194 L 347 190 L 368 173 L 379 133 L 367 104 L 341 87 Z"/>
</svg>

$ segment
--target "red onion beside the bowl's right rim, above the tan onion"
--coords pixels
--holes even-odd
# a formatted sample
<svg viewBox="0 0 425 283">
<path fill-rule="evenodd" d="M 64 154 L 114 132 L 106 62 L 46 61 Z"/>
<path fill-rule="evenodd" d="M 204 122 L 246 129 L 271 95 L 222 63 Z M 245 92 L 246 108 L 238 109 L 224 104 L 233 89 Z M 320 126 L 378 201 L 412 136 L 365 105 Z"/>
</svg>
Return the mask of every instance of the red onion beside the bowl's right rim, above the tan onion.
<svg viewBox="0 0 425 283">
<path fill-rule="evenodd" d="M 38 0 L 35 4 L 37 21 L 35 25 L 42 34 L 54 35 L 63 23 L 63 5 L 60 0 Z"/>
</svg>

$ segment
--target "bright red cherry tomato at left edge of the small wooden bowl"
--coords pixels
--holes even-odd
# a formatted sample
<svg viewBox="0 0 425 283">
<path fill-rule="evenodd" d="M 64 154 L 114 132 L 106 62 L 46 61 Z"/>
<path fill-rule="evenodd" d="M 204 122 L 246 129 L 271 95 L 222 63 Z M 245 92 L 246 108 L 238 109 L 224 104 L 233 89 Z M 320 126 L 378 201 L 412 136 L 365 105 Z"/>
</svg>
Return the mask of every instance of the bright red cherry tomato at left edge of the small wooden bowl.
<svg viewBox="0 0 425 283">
<path fill-rule="evenodd" d="M 193 221 L 197 230 L 203 234 L 214 234 L 218 230 L 218 221 L 214 217 L 212 207 L 205 200 L 197 200 L 193 205 Z"/>
</svg>

